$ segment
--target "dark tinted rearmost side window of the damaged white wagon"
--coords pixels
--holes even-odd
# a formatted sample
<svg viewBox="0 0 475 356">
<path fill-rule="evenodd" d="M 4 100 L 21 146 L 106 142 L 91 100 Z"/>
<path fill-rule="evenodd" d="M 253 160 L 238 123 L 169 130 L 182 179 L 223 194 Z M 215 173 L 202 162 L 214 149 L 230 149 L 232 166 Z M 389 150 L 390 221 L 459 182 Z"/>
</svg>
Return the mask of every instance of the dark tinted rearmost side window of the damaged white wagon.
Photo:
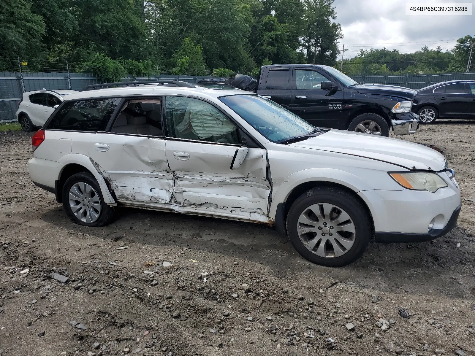
<svg viewBox="0 0 475 356">
<path fill-rule="evenodd" d="M 48 123 L 47 129 L 71 131 L 104 131 L 119 98 L 66 102 Z"/>
</svg>

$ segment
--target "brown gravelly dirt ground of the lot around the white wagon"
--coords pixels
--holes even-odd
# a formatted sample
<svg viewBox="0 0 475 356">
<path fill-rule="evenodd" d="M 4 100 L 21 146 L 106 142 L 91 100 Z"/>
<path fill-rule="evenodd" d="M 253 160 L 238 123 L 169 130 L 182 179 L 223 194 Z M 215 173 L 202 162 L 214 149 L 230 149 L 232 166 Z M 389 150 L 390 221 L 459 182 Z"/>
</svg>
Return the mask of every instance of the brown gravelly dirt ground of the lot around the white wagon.
<svg viewBox="0 0 475 356">
<path fill-rule="evenodd" d="M 29 180 L 30 136 L 0 134 L 0 355 L 475 355 L 475 122 L 402 137 L 456 170 L 458 226 L 343 268 L 263 225 L 139 209 L 75 225 Z"/>
</svg>

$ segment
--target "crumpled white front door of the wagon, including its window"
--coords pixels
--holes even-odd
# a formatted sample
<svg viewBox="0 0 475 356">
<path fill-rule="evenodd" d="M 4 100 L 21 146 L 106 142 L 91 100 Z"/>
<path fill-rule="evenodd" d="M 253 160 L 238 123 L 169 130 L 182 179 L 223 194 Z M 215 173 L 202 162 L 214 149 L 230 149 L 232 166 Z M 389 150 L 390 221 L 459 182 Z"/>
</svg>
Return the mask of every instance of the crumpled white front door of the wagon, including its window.
<svg viewBox="0 0 475 356">
<path fill-rule="evenodd" d="M 267 222 L 266 150 L 243 147 L 237 126 L 205 101 L 167 96 L 165 112 L 175 209 Z"/>
</svg>

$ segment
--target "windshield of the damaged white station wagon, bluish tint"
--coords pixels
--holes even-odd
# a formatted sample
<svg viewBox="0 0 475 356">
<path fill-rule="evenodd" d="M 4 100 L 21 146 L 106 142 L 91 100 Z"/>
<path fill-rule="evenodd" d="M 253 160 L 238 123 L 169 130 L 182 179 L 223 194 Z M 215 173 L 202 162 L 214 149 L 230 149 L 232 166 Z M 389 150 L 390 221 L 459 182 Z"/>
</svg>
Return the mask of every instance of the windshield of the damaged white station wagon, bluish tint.
<svg viewBox="0 0 475 356">
<path fill-rule="evenodd" d="M 308 122 L 261 96 L 229 95 L 221 96 L 219 100 L 273 142 L 288 141 L 315 131 Z"/>
</svg>

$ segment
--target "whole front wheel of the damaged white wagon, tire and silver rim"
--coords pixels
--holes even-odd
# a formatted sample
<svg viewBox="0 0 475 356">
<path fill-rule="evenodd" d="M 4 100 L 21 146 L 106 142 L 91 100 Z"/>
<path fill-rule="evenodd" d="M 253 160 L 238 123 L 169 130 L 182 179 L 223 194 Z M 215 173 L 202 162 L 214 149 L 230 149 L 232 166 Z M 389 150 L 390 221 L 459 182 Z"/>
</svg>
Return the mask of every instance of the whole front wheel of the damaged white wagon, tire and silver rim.
<svg viewBox="0 0 475 356">
<path fill-rule="evenodd" d="M 341 267 L 356 261 L 371 239 L 366 209 L 351 194 L 328 187 L 308 190 L 287 215 L 287 234 L 310 262 Z"/>
</svg>

